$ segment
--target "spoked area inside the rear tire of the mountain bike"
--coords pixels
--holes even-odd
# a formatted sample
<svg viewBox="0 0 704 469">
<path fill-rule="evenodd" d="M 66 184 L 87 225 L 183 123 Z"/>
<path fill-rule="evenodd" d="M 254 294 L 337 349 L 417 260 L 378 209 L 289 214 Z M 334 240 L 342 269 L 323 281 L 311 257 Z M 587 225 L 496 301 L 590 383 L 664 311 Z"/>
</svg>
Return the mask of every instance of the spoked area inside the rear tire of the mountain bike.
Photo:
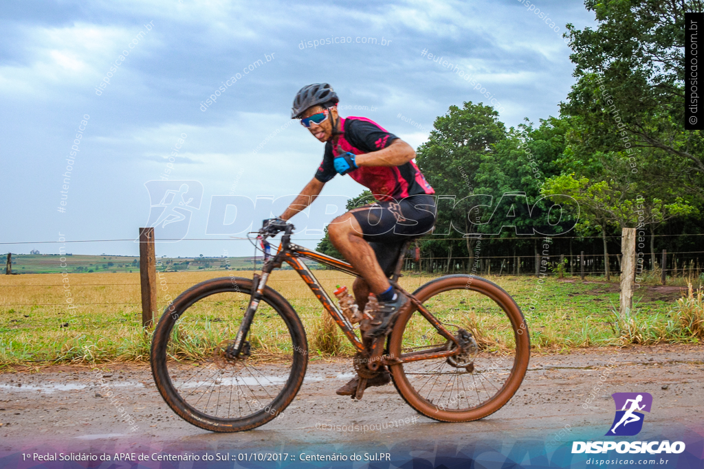
<svg viewBox="0 0 704 469">
<path fill-rule="evenodd" d="M 401 364 L 403 376 L 415 395 L 432 403 L 435 410 L 463 412 L 484 406 L 504 392 L 516 359 L 515 331 L 509 316 L 491 297 L 468 290 L 465 285 L 466 280 L 460 279 L 457 288 L 444 288 L 422 299 L 428 311 L 464 344 L 463 348 L 448 358 L 426 358 Z M 459 340 L 460 330 L 462 340 Z M 413 313 L 404 324 L 400 347 L 403 354 L 457 347 L 435 328 L 429 328 L 425 316 Z"/>
</svg>

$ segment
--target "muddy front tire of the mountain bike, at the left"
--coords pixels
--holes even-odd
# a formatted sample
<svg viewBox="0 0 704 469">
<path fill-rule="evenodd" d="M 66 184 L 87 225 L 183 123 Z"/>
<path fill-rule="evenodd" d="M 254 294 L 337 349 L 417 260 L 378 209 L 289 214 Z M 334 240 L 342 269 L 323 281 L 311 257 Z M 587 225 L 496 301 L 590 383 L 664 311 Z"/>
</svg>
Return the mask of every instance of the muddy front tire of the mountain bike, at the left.
<svg viewBox="0 0 704 469">
<path fill-rule="evenodd" d="M 282 390 L 272 400 L 269 410 L 263 408 L 248 416 L 229 418 L 230 413 L 228 409 L 228 418 L 218 418 L 217 410 L 215 411 L 215 416 L 212 416 L 196 409 L 189 404 L 189 401 L 187 401 L 175 387 L 169 371 L 169 362 L 173 365 L 174 360 L 169 360 L 168 345 L 177 321 L 182 319 L 184 314 L 187 314 L 187 310 L 190 307 L 210 295 L 218 293 L 241 293 L 242 295 L 246 295 L 249 300 L 251 287 L 251 279 L 239 277 L 213 278 L 194 285 L 179 295 L 171 307 L 165 308 L 154 331 L 151 345 L 151 371 L 156 387 L 166 404 L 168 404 L 178 416 L 192 425 L 196 425 L 205 430 L 213 432 L 239 432 L 251 430 L 252 428 L 268 423 L 273 418 L 281 415 L 282 411 L 291 404 L 298 390 L 300 390 L 303 378 L 306 375 L 306 368 L 308 366 L 308 342 L 301 319 L 298 318 L 296 311 L 294 311 L 291 304 L 289 304 L 284 297 L 279 295 L 275 290 L 266 287 L 258 312 L 264 304 L 268 304 L 277 312 L 278 316 L 284 321 L 288 328 L 291 337 L 291 346 L 294 347 L 293 350 L 295 351 L 291 352 L 293 359 L 291 360 L 291 371 L 288 379 L 282 387 Z M 250 328 L 250 335 L 251 331 L 252 328 Z M 232 332 L 231 335 L 234 336 L 234 332 Z M 239 378 L 235 378 L 232 383 L 238 385 L 237 397 L 239 399 L 238 379 Z M 218 380 L 218 378 L 213 379 L 214 382 L 215 380 Z M 215 386 L 213 386 L 213 388 L 214 387 Z M 232 389 L 230 390 L 230 397 L 232 398 Z M 220 395 L 218 395 L 218 404 L 220 402 L 219 399 Z M 275 409 L 275 412 L 272 412 L 271 409 Z"/>
</svg>

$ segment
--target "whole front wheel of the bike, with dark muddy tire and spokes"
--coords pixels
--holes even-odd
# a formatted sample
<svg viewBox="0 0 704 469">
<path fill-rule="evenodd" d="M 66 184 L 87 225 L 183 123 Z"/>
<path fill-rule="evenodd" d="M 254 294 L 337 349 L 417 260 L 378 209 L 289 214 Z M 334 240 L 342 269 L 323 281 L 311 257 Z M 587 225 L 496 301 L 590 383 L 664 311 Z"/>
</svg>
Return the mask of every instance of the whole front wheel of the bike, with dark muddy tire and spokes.
<svg viewBox="0 0 704 469">
<path fill-rule="evenodd" d="M 308 343 L 289 302 L 265 288 L 241 359 L 225 354 L 249 304 L 249 278 L 213 278 L 179 295 L 154 331 L 151 371 L 177 415 L 214 432 L 281 417 L 301 388 Z"/>
</svg>

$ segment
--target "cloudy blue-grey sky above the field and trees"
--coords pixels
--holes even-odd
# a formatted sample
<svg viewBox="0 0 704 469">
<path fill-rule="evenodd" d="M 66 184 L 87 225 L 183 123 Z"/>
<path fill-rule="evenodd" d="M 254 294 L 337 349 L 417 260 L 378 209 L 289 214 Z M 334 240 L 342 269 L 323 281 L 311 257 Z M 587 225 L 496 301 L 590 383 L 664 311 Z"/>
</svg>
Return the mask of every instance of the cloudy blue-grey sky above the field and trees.
<svg viewBox="0 0 704 469">
<path fill-rule="evenodd" d="M 189 182 L 187 195 L 196 197 L 187 210 L 187 239 L 159 243 L 157 255 L 220 256 L 225 249 L 229 255 L 251 255 L 246 241 L 203 240 L 227 238 L 209 234 L 211 201 L 217 195 L 285 200 L 310 180 L 323 145 L 290 120 L 290 108 L 296 91 L 313 82 L 334 86 L 341 115 L 369 117 L 413 146 L 427 139 L 435 117 L 448 106 L 489 101 L 459 72 L 439 63 L 444 60 L 500 103 L 507 127 L 525 117 L 538 122 L 557 115 L 574 83 L 562 32 L 566 23 L 593 25 L 593 15 L 577 0 L 527 5 L 521 0 L 4 2 L 0 251 L 58 252 L 56 244 L 8 243 L 56 241 L 59 233 L 67 240 L 133 239 L 139 226 L 151 224 L 150 205 L 158 205 L 153 199 L 167 189 L 152 183 L 150 199 L 145 183 L 163 177 L 176 153 L 168 179 L 198 181 L 202 199 L 193 206 L 199 186 Z M 315 44 L 326 39 L 330 44 Z M 220 96 L 206 107 L 215 91 Z M 338 176 L 323 194 L 351 197 L 362 189 Z M 320 227 L 334 217 L 326 214 L 334 211 L 327 205 L 311 215 Z M 237 212 L 210 216 L 222 226 Z M 308 223 L 305 215 L 297 218 L 292 221 L 299 226 Z M 158 228 L 156 236 L 163 236 Z M 319 236 L 301 232 L 298 238 L 315 245 Z M 139 252 L 130 241 L 75 243 L 67 250 Z"/>
</svg>

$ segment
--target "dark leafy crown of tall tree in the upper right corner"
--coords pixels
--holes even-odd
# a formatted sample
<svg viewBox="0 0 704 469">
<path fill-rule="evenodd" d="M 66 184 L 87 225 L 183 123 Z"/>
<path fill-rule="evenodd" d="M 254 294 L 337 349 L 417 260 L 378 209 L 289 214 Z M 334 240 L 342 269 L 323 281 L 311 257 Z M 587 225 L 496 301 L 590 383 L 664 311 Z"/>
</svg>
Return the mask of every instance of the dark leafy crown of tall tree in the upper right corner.
<svg viewBox="0 0 704 469">
<path fill-rule="evenodd" d="M 567 25 L 576 64 L 565 115 L 579 117 L 582 140 L 594 151 L 659 149 L 704 192 L 704 141 L 684 129 L 684 13 L 702 11 L 696 0 L 586 0 L 596 30 Z M 657 153 L 641 153 L 641 157 Z M 640 171 L 640 169 L 639 169 Z"/>
</svg>

